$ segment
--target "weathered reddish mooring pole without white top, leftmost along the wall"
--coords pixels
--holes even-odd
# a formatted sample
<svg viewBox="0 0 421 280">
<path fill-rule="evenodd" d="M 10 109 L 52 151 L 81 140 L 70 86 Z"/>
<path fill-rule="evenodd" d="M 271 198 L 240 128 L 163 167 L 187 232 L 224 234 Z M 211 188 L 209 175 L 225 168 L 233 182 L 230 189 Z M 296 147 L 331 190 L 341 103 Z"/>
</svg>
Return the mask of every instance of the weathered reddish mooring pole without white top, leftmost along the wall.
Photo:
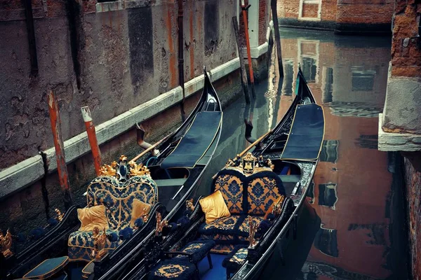
<svg viewBox="0 0 421 280">
<path fill-rule="evenodd" d="M 69 175 L 67 174 L 65 147 L 63 145 L 61 133 L 60 113 L 58 112 L 58 102 L 53 90 L 47 94 L 48 111 L 50 112 L 51 130 L 53 131 L 55 158 L 57 159 L 58 179 L 63 193 L 66 211 L 72 207 L 72 193 L 70 191 Z"/>
</svg>

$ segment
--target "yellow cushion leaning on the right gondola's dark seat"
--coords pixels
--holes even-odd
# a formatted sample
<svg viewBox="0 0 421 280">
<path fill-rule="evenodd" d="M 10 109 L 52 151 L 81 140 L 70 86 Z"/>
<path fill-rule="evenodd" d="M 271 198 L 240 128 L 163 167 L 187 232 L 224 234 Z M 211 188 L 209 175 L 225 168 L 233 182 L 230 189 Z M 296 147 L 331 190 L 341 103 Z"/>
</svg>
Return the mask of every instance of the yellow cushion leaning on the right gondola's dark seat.
<svg viewBox="0 0 421 280">
<path fill-rule="evenodd" d="M 212 195 L 202 198 L 199 200 L 199 203 L 203 213 L 205 214 L 206 223 L 212 223 L 217 218 L 231 216 L 220 190 L 217 190 Z"/>
</svg>

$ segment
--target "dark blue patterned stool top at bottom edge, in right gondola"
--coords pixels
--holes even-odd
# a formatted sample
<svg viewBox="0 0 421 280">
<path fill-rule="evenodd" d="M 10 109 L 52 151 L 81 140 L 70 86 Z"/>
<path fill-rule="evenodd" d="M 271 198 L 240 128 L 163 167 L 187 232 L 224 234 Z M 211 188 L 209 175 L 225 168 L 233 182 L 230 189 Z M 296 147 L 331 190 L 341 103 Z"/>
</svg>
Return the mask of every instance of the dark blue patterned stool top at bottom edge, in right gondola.
<svg viewBox="0 0 421 280">
<path fill-rule="evenodd" d="M 193 279 L 196 266 L 184 260 L 163 260 L 148 274 L 149 280 L 164 280 L 177 278 L 180 280 Z"/>
</svg>

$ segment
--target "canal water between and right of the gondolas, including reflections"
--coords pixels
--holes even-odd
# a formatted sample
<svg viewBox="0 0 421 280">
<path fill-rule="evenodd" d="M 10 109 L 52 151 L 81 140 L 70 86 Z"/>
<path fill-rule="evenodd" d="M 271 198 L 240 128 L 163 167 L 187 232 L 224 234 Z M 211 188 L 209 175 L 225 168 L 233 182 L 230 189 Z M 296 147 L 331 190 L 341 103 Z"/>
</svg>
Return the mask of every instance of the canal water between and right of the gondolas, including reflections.
<svg viewBox="0 0 421 280">
<path fill-rule="evenodd" d="M 203 179 L 248 146 L 244 118 L 254 137 L 281 120 L 300 65 L 323 106 L 325 140 L 298 238 L 276 249 L 262 279 L 408 279 L 401 158 L 377 150 L 391 38 L 281 29 L 281 45 L 284 78 L 273 51 L 269 78 L 257 85 L 252 104 L 240 98 L 224 110 L 218 151 Z M 199 192 L 209 190 L 203 182 Z"/>
</svg>

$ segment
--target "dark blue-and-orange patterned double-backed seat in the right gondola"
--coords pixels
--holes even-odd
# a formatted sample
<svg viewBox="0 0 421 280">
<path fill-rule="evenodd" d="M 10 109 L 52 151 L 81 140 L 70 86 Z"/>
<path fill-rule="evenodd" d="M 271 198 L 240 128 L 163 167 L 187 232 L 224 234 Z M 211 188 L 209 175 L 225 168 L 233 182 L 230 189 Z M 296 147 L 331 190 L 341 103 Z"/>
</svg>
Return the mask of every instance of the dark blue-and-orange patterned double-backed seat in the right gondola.
<svg viewBox="0 0 421 280">
<path fill-rule="evenodd" d="M 239 167 L 222 169 L 215 176 L 213 190 L 220 190 L 230 214 L 199 226 L 201 239 L 215 241 L 213 253 L 229 253 L 238 244 L 248 244 L 248 217 L 259 225 L 272 204 L 286 193 L 279 176 L 269 168 L 255 169 L 252 174 Z"/>
</svg>

